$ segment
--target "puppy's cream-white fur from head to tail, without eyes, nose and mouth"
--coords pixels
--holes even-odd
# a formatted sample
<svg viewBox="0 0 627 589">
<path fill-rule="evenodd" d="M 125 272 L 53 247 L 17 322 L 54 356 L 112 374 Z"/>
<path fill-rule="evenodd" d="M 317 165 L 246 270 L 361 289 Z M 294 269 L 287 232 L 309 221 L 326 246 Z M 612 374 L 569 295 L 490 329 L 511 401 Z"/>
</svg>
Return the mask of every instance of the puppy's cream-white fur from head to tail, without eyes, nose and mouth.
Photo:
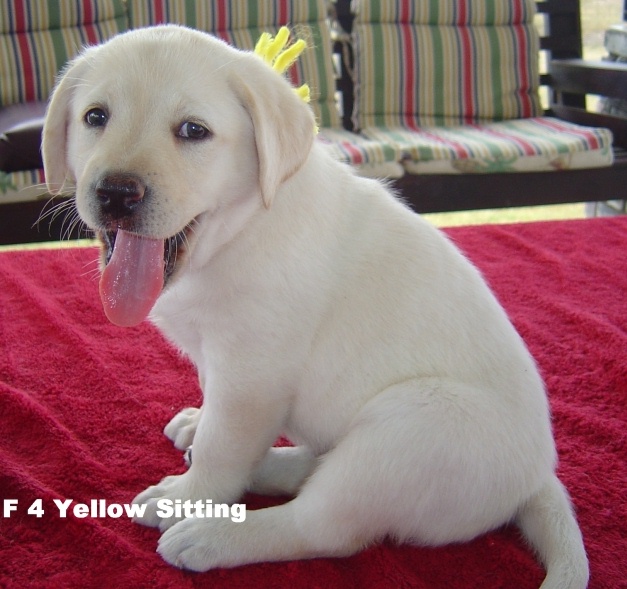
<svg viewBox="0 0 627 589">
<path fill-rule="evenodd" d="M 149 73 L 148 73 L 149 72 Z M 82 123 L 106 106 L 104 130 Z M 209 141 L 175 140 L 181 121 Z M 543 383 L 477 270 L 380 183 L 313 142 L 308 107 L 247 53 L 176 27 L 90 49 L 49 109 L 49 182 L 97 226 L 110 171 L 151 191 L 136 219 L 189 251 L 151 318 L 195 362 L 202 411 L 166 427 L 193 463 L 136 498 L 188 569 L 343 556 L 385 536 L 464 541 L 518 521 L 546 588 L 588 569 Z M 66 132 L 67 129 L 67 132 Z M 279 434 L 299 447 L 272 449 Z M 148 451 L 148 450 L 147 450 Z M 159 498 L 296 493 L 243 523 L 162 520 Z"/>
</svg>

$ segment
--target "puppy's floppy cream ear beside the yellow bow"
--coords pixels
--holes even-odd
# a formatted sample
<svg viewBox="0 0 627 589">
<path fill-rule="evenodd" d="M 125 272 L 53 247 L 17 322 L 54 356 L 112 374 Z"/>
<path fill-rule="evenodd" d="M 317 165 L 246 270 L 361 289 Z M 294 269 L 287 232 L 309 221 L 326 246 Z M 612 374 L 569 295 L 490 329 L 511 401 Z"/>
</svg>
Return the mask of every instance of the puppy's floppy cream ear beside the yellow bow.
<svg viewBox="0 0 627 589">
<path fill-rule="evenodd" d="M 256 56 L 249 59 L 232 83 L 253 122 L 261 195 L 269 208 L 281 183 L 305 163 L 314 140 L 315 119 L 283 76 Z"/>
</svg>

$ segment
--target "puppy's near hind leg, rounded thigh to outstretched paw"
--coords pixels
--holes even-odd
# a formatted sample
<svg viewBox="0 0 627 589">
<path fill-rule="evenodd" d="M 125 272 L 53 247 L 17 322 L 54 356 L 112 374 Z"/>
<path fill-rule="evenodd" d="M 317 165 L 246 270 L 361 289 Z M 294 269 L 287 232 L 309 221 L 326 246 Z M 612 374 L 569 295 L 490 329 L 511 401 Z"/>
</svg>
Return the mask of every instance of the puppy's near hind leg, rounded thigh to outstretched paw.
<svg viewBox="0 0 627 589">
<path fill-rule="evenodd" d="M 525 491 L 508 476 L 506 444 L 486 444 L 498 420 L 474 395 L 445 379 L 395 385 L 364 406 L 295 499 L 244 521 L 184 520 L 158 551 L 175 566 L 206 571 L 348 556 L 386 535 L 437 545 L 492 529 L 513 517 Z M 271 464 L 260 470 L 279 461 Z M 268 484 L 259 479 L 258 488 Z"/>
</svg>

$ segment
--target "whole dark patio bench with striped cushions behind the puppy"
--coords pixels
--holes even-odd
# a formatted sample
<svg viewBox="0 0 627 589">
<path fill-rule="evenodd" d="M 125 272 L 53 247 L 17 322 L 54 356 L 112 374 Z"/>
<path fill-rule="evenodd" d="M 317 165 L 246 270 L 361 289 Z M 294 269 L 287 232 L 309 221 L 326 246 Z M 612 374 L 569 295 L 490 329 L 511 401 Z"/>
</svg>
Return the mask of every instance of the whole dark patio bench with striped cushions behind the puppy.
<svg viewBox="0 0 627 589">
<path fill-rule="evenodd" d="M 63 212 L 45 216 L 59 202 L 49 202 L 39 154 L 55 76 L 82 45 L 164 22 L 245 49 L 281 25 L 304 32 L 312 49 L 290 75 L 312 87 L 319 140 L 359 173 L 387 178 L 418 212 L 624 198 L 627 119 L 587 110 L 585 95 L 627 98 L 627 64 L 582 59 L 577 0 L 3 6 L 0 244 L 81 235 Z"/>
</svg>

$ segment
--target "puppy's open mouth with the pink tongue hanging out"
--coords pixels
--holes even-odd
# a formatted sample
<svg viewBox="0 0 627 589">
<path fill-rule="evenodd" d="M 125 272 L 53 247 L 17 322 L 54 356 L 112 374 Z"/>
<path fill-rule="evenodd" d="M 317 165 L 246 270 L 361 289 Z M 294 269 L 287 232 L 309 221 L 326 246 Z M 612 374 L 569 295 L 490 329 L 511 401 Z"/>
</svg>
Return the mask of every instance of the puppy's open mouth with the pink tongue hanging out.
<svg viewBox="0 0 627 589">
<path fill-rule="evenodd" d="M 192 226 L 165 240 L 124 229 L 100 232 L 105 262 L 100 298 L 112 323 L 130 327 L 148 316 L 186 253 Z"/>
</svg>

